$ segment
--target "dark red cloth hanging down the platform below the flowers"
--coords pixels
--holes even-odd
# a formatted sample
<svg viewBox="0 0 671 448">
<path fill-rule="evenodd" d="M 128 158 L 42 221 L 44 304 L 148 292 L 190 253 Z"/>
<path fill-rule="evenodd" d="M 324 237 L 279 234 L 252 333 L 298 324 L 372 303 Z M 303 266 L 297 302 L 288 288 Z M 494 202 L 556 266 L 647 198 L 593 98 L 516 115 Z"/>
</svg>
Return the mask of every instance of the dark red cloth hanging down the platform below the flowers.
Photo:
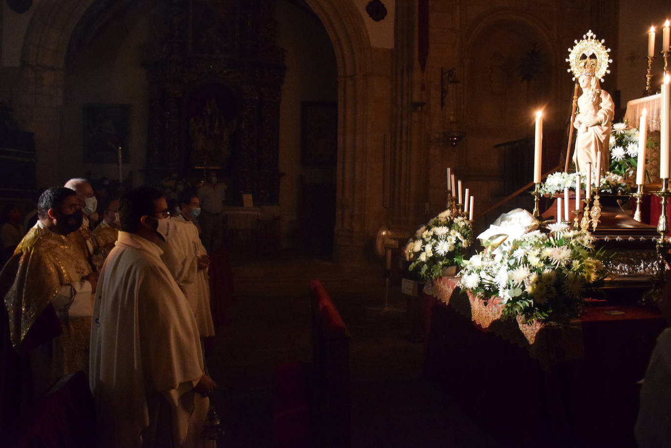
<svg viewBox="0 0 671 448">
<path fill-rule="evenodd" d="M 449 306 L 435 302 L 425 377 L 444 384 L 504 446 L 635 447 L 637 382 L 665 326 L 661 314 L 631 306 L 588 308 L 580 316 L 583 355 L 547 369 L 527 347 L 496 334 L 503 322 L 482 329 L 456 312 L 464 301 L 466 295 L 455 292 Z"/>
</svg>

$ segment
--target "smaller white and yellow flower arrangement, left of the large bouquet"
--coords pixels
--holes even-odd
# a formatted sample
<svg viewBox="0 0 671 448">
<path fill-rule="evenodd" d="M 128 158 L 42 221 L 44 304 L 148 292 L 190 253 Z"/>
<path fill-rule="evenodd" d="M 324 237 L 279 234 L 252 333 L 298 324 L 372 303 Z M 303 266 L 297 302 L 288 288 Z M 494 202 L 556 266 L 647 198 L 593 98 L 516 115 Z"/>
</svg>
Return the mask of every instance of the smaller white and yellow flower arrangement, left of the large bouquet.
<svg viewBox="0 0 671 448">
<path fill-rule="evenodd" d="M 473 228 L 452 210 L 445 210 L 417 229 L 408 240 L 405 259 L 410 261 L 409 271 L 423 279 L 436 279 L 446 267 L 461 263 L 466 248 L 473 240 Z"/>
</svg>

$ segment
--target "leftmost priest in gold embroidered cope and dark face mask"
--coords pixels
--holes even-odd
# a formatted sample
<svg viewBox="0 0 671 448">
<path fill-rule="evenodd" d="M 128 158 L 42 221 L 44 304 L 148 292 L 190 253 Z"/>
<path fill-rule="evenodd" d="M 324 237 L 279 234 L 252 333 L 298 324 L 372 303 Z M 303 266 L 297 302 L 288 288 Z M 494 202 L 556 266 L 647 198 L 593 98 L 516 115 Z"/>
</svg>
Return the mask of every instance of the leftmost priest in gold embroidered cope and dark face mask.
<svg viewBox="0 0 671 448">
<path fill-rule="evenodd" d="M 0 273 L 3 338 L 9 337 L 15 353 L 3 369 L 18 382 L 3 382 L 3 406 L 30 406 L 64 375 L 89 368 L 97 275 L 67 238 L 82 220 L 74 191 L 46 189 L 38 217 Z"/>
</svg>

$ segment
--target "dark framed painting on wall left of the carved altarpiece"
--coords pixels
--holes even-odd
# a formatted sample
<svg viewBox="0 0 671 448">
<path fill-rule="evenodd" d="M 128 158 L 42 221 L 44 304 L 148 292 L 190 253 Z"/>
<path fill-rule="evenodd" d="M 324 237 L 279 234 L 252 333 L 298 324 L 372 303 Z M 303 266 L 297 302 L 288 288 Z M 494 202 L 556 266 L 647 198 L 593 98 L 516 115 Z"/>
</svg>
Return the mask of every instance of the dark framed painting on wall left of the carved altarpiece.
<svg viewBox="0 0 671 448">
<path fill-rule="evenodd" d="M 84 162 L 130 162 L 130 104 L 83 105 Z"/>
</svg>

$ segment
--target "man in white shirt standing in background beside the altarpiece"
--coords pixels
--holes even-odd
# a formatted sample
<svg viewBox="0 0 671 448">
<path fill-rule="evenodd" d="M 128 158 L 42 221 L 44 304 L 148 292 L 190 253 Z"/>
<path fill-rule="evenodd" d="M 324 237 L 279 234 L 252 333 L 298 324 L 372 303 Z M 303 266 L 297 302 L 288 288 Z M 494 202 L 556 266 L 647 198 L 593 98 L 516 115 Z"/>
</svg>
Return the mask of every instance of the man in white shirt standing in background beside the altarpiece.
<svg viewBox="0 0 671 448">
<path fill-rule="evenodd" d="M 203 229 L 203 246 L 209 254 L 218 251 L 223 242 L 222 212 L 225 197 L 226 184 L 219 183 L 217 171 L 209 171 L 207 180 L 198 189 L 202 208 L 199 222 Z"/>
</svg>

